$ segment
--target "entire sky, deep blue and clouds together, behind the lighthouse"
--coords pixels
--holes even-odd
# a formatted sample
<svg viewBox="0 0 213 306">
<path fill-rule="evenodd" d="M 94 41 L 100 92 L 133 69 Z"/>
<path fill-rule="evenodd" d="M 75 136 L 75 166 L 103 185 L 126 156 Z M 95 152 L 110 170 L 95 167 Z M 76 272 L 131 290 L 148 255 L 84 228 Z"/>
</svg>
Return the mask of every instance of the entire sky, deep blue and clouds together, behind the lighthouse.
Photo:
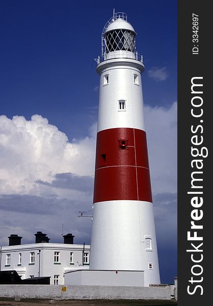
<svg viewBox="0 0 213 306">
<path fill-rule="evenodd" d="M 50 237 L 50 228 L 54 242 L 61 239 L 60 235 L 57 238 L 57 231 L 61 231 L 62 219 L 67 224 L 66 231 L 73 231 L 76 236 L 76 243 L 90 243 L 91 223 L 85 220 L 89 218 L 76 221 L 73 216 L 66 217 L 66 212 L 71 206 L 69 213 L 76 216 L 78 210 L 91 207 L 99 85 L 94 58 L 101 55 L 101 32 L 115 8 L 116 12 L 127 14 L 127 20 L 137 32 L 138 53 L 144 57 L 142 81 L 152 189 L 155 206 L 159 203 L 156 208 L 159 263 L 162 282 L 172 282 L 177 273 L 176 6 L 172 0 L 108 1 L 107 4 L 91 1 L 84 5 L 68 0 L 0 1 L 0 107 L 1 115 L 7 117 L 2 117 L 0 124 L 1 197 L 3 206 L 4 203 L 10 206 L 3 208 L 2 215 L 5 213 L 7 217 L 10 209 L 13 218 L 7 225 L 2 219 L 1 244 L 7 243 L 5 237 L 10 234 L 23 235 L 25 243 L 33 242 L 34 232 L 40 230 L 48 232 Z M 31 119 L 36 114 L 42 118 Z M 25 119 L 12 119 L 13 116 Z M 71 160 L 67 157 L 69 150 Z M 75 182 L 73 186 L 78 188 L 70 191 L 66 185 L 69 182 Z M 50 213 L 52 219 L 47 213 L 50 203 L 54 207 Z M 44 219 L 34 209 L 40 205 Z M 37 214 L 40 223 L 21 225 L 20 211 L 26 212 L 26 220 Z M 174 218 L 171 228 L 162 225 L 163 214 L 167 213 L 167 220 Z M 69 220 L 74 226 L 69 225 Z M 42 228 L 36 227 L 38 224 Z M 166 238 L 163 241 L 165 235 L 167 241 Z"/>
</svg>

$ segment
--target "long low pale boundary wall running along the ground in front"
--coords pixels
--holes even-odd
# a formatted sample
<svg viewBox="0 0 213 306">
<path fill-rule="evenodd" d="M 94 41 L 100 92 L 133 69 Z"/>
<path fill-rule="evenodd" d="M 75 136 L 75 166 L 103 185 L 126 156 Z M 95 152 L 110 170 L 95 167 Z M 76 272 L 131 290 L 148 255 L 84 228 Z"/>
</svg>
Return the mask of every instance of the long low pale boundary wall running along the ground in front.
<svg viewBox="0 0 213 306">
<path fill-rule="evenodd" d="M 66 291 L 62 291 L 66 288 Z M 45 299 L 167 299 L 170 287 L 0 285 L 0 297 Z"/>
</svg>

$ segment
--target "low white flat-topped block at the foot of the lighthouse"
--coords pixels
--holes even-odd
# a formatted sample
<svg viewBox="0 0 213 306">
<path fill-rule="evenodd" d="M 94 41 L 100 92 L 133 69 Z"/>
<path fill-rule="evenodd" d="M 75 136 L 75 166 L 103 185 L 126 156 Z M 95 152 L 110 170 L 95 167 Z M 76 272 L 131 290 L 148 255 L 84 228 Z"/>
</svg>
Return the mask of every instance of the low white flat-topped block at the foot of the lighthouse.
<svg viewBox="0 0 213 306">
<path fill-rule="evenodd" d="M 64 284 L 144 287 L 144 271 L 75 270 L 64 274 Z"/>
</svg>

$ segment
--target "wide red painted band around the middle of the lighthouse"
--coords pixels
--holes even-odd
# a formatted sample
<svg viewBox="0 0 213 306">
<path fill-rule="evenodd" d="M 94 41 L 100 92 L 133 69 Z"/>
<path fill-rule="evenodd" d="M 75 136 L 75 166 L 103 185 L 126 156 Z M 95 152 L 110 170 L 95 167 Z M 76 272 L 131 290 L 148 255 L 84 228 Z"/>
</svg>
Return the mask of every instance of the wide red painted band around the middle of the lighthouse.
<svg viewBox="0 0 213 306">
<path fill-rule="evenodd" d="M 117 128 L 97 134 L 93 202 L 152 202 L 146 133 Z"/>
</svg>

